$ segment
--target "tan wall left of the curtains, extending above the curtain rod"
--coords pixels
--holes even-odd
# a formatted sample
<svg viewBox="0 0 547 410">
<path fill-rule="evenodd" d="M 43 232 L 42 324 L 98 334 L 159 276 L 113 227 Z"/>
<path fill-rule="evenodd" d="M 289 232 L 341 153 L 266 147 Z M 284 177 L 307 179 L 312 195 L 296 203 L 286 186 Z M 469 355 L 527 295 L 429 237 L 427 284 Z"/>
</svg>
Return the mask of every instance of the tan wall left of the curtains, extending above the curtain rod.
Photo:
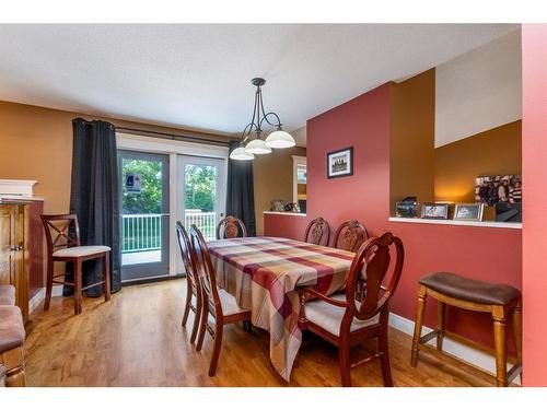
<svg viewBox="0 0 547 410">
<path fill-rule="evenodd" d="M 44 212 L 69 211 L 72 167 L 72 119 L 105 119 L 118 127 L 224 139 L 223 137 L 101 118 L 78 113 L 0 102 L 0 179 L 35 179 Z"/>
</svg>

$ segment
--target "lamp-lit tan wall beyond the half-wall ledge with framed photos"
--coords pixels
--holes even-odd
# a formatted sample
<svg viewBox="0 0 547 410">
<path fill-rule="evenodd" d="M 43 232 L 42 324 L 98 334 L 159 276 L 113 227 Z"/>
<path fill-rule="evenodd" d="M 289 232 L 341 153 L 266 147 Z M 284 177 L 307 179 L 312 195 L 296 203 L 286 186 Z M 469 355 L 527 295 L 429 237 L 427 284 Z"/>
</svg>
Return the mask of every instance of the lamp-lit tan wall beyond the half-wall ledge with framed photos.
<svg viewBox="0 0 547 410">
<path fill-rule="evenodd" d="M 435 150 L 435 200 L 475 202 L 477 176 L 521 174 L 522 121 Z"/>
</svg>

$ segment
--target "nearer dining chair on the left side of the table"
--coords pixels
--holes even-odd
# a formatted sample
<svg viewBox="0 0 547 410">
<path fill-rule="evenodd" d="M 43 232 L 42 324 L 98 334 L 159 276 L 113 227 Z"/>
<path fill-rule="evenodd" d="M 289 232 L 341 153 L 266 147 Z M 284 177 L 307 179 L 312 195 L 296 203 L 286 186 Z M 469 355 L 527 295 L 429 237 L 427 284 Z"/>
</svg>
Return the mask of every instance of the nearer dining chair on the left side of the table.
<svg viewBox="0 0 547 410">
<path fill-rule="evenodd" d="M 241 308 L 234 296 L 217 286 L 217 278 L 209 248 L 207 247 L 203 235 L 196 225 L 191 225 L 190 236 L 197 256 L 196 267 L 199 272 L 201 292 L 203 295 L 203 309 L 201 312 L 196 350 L 201 350 L 205 332 L 207 330 L 214 339 L 211 363 L 209 365 L 209 376 L 212 377 L 217 372 L 217 365 L 219 363 L 224 325 L 238 321 L 244 323 L 244 326 L 248 325 L 251 323 L 251 311 Z M 209 325 L 209 315 L 214 318 L 214 329 Z"/>
</svg>

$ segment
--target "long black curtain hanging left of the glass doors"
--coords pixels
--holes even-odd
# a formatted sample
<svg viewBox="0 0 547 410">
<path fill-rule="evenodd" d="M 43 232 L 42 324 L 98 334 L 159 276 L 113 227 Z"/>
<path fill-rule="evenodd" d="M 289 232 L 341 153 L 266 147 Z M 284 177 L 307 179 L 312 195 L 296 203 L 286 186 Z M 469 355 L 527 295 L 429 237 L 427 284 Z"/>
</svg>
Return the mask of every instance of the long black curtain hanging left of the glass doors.
<svg viewBox="0 0 547 410">
<path fill-rule="evenodd" d="M 116 131 L 105 121 L 72 120 L 72 184 L 70 213 L 78 215 L 82 245 L 105 245 L 110 251 L 110 288 L 119 291 L 119 177 Z M 89 260 L 82 267 L 83 286 L 101 281 L 102 260 Z M 65 286 L 63 294 L 73 292 Z M 88 290 L 88 296 L 101 296 L 103 286 Z"/>
</svg>

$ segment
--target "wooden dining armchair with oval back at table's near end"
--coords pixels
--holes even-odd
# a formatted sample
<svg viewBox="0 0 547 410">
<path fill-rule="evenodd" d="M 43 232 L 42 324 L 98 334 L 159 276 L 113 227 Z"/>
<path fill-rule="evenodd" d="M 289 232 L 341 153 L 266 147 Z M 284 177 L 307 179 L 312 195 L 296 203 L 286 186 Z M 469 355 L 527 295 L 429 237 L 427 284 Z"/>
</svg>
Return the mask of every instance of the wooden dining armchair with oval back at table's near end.
<svg viewBox="0 0 547 410">
<path fill-rule="evenodd" d="M 396 253 L 391 263 L 389 248 Z M 333 297 L 313 289 L 300 290 L 299 326 L 307 329 L 338 347 L 341 383 L 351 386 L 350 368 L 380 359 L 385 386 L 393 386 L 387 328 L 389 300 L 397 289 L 405 259 L 403 243 L 392 233 L 369 238 L 357 251 L 346 282 L 346 292 Z M 393 266 L 393 269 L 389 269 Z M 391 274 L 387 274 L 392 271 Z M 364 286 L 361 297 L 358 283 Z M 307 301 L 307 297 L 314 297 Z M 379 351 L 370 356 L 350 363 L 352 345 L 371 338 L 377 338 Z"/>
</svg>

